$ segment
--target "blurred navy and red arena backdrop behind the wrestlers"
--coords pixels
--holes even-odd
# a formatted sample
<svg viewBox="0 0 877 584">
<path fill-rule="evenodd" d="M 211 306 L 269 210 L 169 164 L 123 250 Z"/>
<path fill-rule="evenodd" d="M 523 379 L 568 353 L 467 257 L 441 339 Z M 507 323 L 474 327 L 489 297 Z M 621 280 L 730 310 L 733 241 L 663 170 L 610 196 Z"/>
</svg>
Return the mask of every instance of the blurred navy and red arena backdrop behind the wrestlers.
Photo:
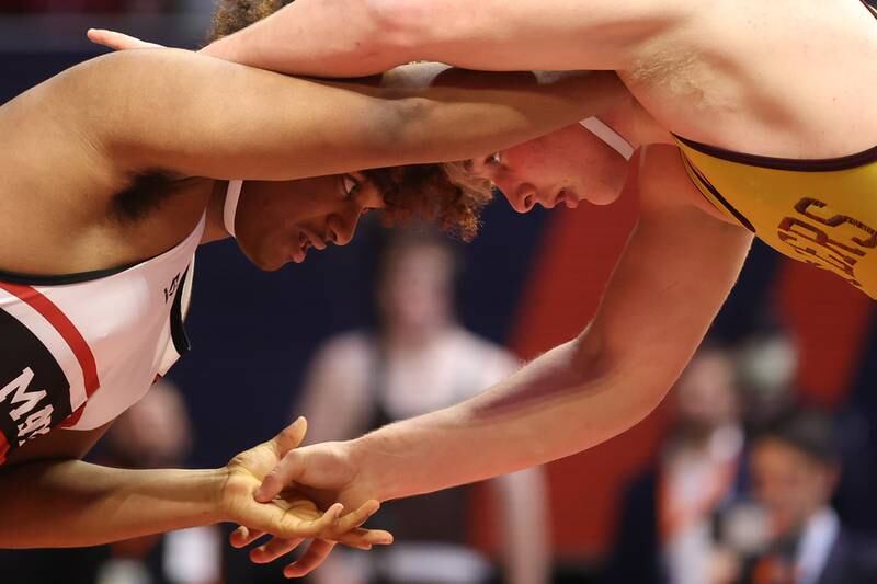
<svg viewBox="0 0 877 584">
<path fill-rule="evenodd" d="M 0 18 L 0 103 L 99 54 L 84 42 L 88 26 L 194 46 L 204 18 Z M 459 306 L 465 323 L 523 358 L 571 337 L 593 313 L 634 220 L 631 193 L 610 207 L 582 205 L 526 216 L 497 202 L 485 215 L 480 237 L 464 248 L 468 270 Z M 201 249 L 187 320 L 193 352 L 171 375 L 194 417 L 197 442 L 191 465 L 223 465 L 275 433 L 294 415 L 303 368 L 314 348 L 333 333 L 367 324 L 376 229 L 366 226 L 346 248 L 311 254 L 306 264 L 272 274 L 251 266 L 234 242 Z M 875 484 L 877 472 L 873 312 L 873 302 L 841 279 L 756 244 L 714 334 L 730 342 L 744 337 L 766 314 L 790 332 L 800 350 L 796 386 L 801 396 L 842 417 L 854 411 L 864 423 L 857 426 L 866 430 L 857 451 L 868 454 L 847 463 L 852 474 L 844 479 L 839 506 L 847 523 L 875 531 L 877 505 L 859 503 L 854 513 L 844 507 L 846 493 Z M 631 432 L 549 466 L 554 540 L 561 561 L 586 561 L 604 551 L 619 488 L 653 455 L 662 423 L 659 409 Z M 492 546 L 490 524 L 487 511 L 474 519 L 471 530 L 486 548 Z"/>
</svg>

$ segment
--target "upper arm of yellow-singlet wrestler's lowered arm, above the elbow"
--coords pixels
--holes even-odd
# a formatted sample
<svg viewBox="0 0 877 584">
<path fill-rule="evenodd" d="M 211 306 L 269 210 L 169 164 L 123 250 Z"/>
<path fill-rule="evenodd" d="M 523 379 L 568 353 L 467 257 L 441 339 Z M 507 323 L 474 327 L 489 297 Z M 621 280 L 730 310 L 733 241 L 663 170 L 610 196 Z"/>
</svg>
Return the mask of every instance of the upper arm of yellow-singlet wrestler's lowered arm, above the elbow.
<svg viewBox="0 0 877 584">
<path fill-rule="evenodd" d="M 733 287 L 752 234 L 688 204 L 674 148 L 642 156 L 641 216 L 583 346 L 671 383 Z"/>
</svg>

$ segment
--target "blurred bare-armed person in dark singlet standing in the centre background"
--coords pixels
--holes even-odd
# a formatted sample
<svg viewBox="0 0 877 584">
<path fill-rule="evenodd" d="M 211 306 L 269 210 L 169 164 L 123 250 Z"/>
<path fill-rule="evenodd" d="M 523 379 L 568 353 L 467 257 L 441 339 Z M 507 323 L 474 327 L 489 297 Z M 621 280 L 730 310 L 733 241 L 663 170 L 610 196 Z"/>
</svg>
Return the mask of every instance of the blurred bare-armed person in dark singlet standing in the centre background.
<svg viewBox="0 0 877 584">
<path fill-rule="evenodd" d="M 469 398 L 517 366 L 501 347 L 465 330 L 454 316 L 458 271 L 451 242 L 431 231 L 391 232 L 378 271 L 375 332 L 330 340 L 304 389 L 309 442 L 345 439 L 395 420 Z M 505 582 L 547 582 L 547 501 L 542 469 L 490 481 L 504 538 Z M 385 504 L 374 526 L 394 531 L 387 550 L 338 554 L 318 584 L 475 584 L 490 562 L 466 546 L 468 489 Z"/>
</svg>

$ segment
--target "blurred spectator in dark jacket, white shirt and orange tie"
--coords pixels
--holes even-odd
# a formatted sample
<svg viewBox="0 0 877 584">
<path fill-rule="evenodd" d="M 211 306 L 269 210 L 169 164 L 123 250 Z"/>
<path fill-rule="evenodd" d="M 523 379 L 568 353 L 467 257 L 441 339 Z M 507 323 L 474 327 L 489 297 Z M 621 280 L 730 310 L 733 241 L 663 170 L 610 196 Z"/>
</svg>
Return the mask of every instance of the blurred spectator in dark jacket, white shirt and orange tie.
<svg viewBox="0 0 877 584">
<path fill-rule="evenodd" d="M 708 584 L 725 508 L 742 496 L 743 430 L 734 362 L 717 347 L 695 355 L 671 393 L 673 420 L 658 463 L 631 482 L 605 582 Z"/>
</svg>

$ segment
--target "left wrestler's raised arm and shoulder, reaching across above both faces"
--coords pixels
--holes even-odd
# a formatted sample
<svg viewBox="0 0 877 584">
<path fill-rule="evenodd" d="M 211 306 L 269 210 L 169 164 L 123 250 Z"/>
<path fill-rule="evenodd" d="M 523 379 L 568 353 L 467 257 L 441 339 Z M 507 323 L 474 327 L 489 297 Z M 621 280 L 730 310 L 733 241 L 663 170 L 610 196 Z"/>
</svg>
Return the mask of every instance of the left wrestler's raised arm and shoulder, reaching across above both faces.
<svg viewBox="0 0 877 584">
<path fill-rule="evenodd" d="M 483 156 L 602 111 L 623 91 L 613 73 L 568 76 L 545 85 L 531 75 L 498 75 L 429 89 L 383 89 L 145 49 L 62 73 L 19 98 L 23 107 L 11 107 L 5 122 L 21 133 L 27 125 L 15 124 L 16 114 L 33 118 L 33 107 L 47 105 L 69 113 L 61 129 L 73 126 L 93 150 L 90 164 L 71 164 L 73 170 L 98 159 L 126 178 L 166 170 L 287 180 Z"/>
</svg>

